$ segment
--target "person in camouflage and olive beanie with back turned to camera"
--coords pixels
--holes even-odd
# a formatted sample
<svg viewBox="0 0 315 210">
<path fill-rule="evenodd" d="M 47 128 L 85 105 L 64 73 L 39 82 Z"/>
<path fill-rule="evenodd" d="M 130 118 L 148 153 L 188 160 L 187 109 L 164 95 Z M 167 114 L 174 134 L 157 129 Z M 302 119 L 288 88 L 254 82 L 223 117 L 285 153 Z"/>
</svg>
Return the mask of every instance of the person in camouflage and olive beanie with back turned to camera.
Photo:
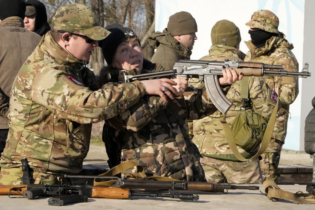
<svg viewBox="0 0 315 210">
<path fill-rule="evenodd" d="M 211 29 L 212 46 L 209 55 L 200 60 L 224 61 L 242 60 L 245 54 L 241 52 L 239 43 L 241 42 L 240 31 L 231 21 L 220 20 Z M 226 113 L 226 122 L 231 127 L 232 122 L 241 109 L 244 109 L 240 100 L 241 83 L 235 82 L 227 92 L 226 97 L 233 102 L 231 108 Z M 252 109 L 256 113 L 269 119 L 275 101 L 270 99 L 271 89 L 264 82 L 263 77 L 249 77 L 249 100 L 245 102 L 246 109 Z M 222 113 L 216 111 L 214 114 L 206 116 L 200 120 L 193 121 L 193 139 L 201 155 L 200 162 L 205 171 L 206 179 L 212 183 L 262 183 L 262 176 L 258 158 L 247 162 L 240 162 L 233 155 L 220 122 Z M 246 158 L 253 156 L 254 151 L 245 152 L 238 147 L 238 151 Z"/>
</svg>

